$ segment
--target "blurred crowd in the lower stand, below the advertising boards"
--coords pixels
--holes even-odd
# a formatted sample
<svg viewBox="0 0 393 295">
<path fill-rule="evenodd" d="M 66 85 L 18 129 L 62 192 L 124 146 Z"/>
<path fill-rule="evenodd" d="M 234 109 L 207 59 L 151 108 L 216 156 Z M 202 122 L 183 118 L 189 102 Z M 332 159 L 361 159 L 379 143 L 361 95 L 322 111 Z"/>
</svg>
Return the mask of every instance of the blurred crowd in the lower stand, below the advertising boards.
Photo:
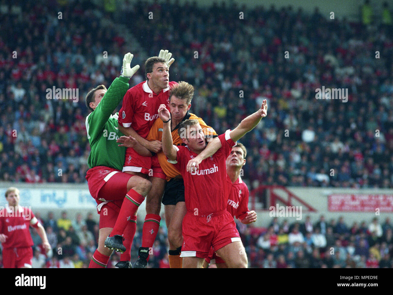
<svg viewBox="0 0 393 295">
<path fill-rule="evenodd" d="M 36 214 L 44 224 L 52 247 L 50 255 L 40 247 L 40 237 L 31 228 L 34 242 L 33 268 L 87 268 L 97 248 L 98 224 L 91 213 L 86 219 L 81 213 L 74 220 L 62 212 L 60 219 L 49 213 L 46 219 Z M 392 268 L 393 226 L 387 218 L 383 224 L 378 219 L 345 223 L 325 220 L 321 217 L 312 222 L 279 223 L 272 219 L 268 228 L 254 228 L 237 222 L 242 242 L 246 248 L 251 268 Z M 136 231 L 131 249 L 131 261 L 138 257 L 141 235 Z M 154 243 L 149 268 L 169 268 L 167 228 L 159 229 Z M 107 268 L 119 262 L 118 254 L 112 254 Z M 0 255 L 0 268 L 2 267 Z"/>
</svg>

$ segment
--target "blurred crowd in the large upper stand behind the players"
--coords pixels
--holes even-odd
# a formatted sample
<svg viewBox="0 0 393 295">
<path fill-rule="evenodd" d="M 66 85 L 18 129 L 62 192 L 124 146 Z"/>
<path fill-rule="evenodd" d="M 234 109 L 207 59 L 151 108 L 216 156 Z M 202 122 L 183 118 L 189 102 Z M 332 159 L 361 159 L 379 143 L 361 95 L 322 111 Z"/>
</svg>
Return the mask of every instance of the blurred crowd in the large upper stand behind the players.
<svg viewBox="0 0 393 295">
<path fill-rule="evenodd" d="M 119 57 L 138 44 L 133 62 L 141 66 L 171 50 L 171 80 L 195 86 L 191 111 L 219 133 L 268 99 L 268 116 L 243 140 L 250 189 L 393 187 L 388 9 L 390 22 L 365 25 L 318 9 L 107 4 L 0 1 L 0 180 L 86 182 L 84 96 L 109 86 Z M 140 69 L 130 86 L 143 79 Z M 317 99 L 322 86 L 348 89 L 347 102 Z M 79 97 L 47 99 L 53 87 L 77 88 Z"/>
</svg>

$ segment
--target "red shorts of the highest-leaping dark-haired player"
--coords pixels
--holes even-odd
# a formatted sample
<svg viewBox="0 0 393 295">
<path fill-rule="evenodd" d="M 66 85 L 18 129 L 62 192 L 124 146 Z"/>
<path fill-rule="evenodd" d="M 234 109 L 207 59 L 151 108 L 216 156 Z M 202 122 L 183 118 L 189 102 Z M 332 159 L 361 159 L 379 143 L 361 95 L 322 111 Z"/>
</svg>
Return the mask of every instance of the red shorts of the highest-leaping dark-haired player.
<svg viewBox="0 0 393 295">
<path fill-rule="evenodd" d="M 140 172 L 152 177 L 166 179 L 166 175 L 158 162 L 157 155 L 143 157 L 132 148 L 128 148 L 125 153 L 123 172 L 125 171 Z"/>
</svg>

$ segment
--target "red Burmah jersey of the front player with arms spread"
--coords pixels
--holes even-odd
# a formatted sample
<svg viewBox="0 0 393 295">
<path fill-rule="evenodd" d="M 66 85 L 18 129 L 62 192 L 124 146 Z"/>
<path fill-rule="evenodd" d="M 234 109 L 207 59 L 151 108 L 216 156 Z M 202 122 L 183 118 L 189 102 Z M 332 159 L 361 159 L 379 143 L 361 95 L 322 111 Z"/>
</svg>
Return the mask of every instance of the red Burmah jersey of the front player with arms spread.
<svg viewBox="0 0 393 295">
<path fill-rule="evenodd" d="M 187 172 L 187 164 L 197 156 L 187 146 L 174 146 L 177 163 L 174 164 L 184 179 L 185 206 L 195 215 L 210 215 L 224 211 L 228 204 L 225 160 L 236 145 L 230 138 L 230 130 L 219 135 L 220 149 L 199 164 L 199 170 Z"/>
</svg>

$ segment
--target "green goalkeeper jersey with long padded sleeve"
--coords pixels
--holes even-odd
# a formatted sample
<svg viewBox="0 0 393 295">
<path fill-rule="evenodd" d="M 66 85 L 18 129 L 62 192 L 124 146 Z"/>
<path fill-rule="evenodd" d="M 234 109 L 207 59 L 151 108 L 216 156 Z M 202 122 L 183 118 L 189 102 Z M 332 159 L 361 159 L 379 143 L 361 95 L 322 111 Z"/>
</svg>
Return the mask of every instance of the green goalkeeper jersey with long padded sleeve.
<svg viewBox="0 0 393 295">
<path fill-rule="evenodd" d="M 107 166 L 122 170 L 126 147 L 119 147 L 116 140 L 123 136 L 118 128 L 118 113 L 113 111 L 129 88 L 129 78 L 116 78 L 101 102 L 86 118 L 87 138 L 90 143 L 89 168 Z"/>
</svg>

